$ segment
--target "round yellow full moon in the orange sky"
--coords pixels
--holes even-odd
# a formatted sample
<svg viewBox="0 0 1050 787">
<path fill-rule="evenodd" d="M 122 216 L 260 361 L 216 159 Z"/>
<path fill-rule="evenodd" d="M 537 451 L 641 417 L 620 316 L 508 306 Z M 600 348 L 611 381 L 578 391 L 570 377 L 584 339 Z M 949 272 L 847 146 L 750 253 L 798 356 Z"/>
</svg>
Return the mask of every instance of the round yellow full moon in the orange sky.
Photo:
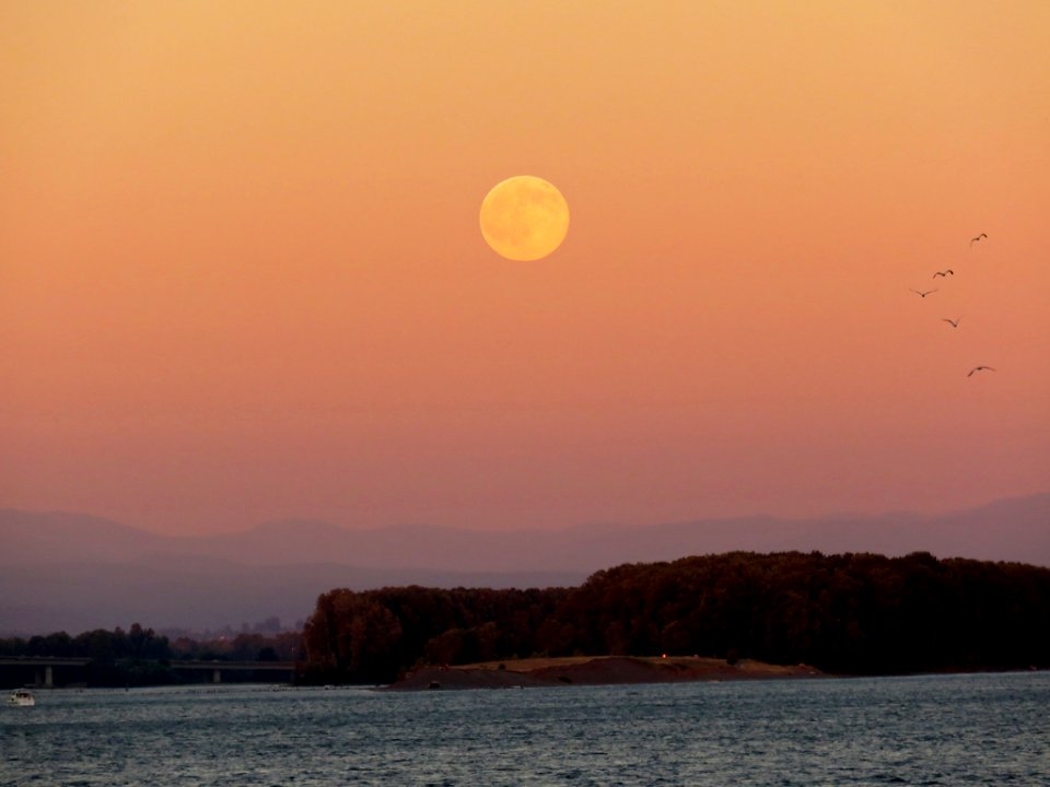
<svg viewBox="0 0 1050 787">
<path fill-rule="evenodd" d="M 481 202 L 481 235 L 508 259 L 546 257 L 561 245 L 568 231 L 569 204 L 542 178 L 508 178 L 493 186 Z"/>
</svg>

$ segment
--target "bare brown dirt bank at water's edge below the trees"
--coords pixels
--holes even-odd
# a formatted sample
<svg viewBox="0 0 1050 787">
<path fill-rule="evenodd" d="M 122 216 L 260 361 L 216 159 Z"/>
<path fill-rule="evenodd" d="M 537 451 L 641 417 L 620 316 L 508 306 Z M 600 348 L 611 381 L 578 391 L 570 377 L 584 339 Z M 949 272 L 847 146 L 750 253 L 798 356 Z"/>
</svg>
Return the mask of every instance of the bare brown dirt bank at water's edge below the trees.
<svg viewBox="0 0 1050 787">
<path fill-rule="evenodd" d="M 564 685 L 684 683 L 693 681 L 820 678 L 806 665 L 781 666 L 742 659 L 700 657 L 578 656 L 491 661 L 458 667 L 423 667 L 409 672 L 388 691 L 428 689 L 536 689 Z"/>
</svg>

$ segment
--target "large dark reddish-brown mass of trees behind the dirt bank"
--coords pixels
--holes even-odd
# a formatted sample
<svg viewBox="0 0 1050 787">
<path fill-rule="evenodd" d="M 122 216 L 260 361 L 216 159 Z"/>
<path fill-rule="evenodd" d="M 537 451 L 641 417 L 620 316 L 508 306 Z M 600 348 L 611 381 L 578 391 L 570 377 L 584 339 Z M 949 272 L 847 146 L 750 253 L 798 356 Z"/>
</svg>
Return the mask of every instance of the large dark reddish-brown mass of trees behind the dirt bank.
<svg viewBox="0 0 1050 787">
<path fill-rule="evenodd" d="M 386 682 L 421 663 L 700 655 L 847 674 L 1050 666 L 1050 569 L 928 553 L 687 557 L 579 588 L 384 588 L 320 596 L 305 677 Z"/>
</svg>

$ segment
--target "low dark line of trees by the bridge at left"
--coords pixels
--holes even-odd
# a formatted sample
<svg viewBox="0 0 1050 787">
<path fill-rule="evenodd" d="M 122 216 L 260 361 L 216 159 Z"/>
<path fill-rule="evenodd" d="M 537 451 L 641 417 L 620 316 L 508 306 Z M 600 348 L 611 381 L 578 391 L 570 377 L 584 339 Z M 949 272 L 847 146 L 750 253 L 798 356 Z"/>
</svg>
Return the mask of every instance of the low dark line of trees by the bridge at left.
<svg viewBox="0 0 1050 787">
<path fill-rule="evenodd" d="M 90 685 L 145 685 L 180 682 L 182 678 L 170 669 L 173 660 L 295 661 L 302 656 L 301 643 L 299 632 L 242 633 L 202 641 L 179 636 L 172 641 L 135 623 L 129 631 L 118 626 L 77 636 L 56 632 L 0 638 L 0 656 L 88 658 Z"/>
</svg>

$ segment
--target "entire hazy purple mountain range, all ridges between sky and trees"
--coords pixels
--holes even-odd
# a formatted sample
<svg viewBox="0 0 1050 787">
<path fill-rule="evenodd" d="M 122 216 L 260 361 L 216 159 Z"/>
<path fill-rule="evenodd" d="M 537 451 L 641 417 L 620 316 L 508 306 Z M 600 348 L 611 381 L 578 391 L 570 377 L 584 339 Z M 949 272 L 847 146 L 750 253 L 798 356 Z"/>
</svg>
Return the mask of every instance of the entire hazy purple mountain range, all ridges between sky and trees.
<svg viewBox="0 0 1050 787">
<path fill-rule="evenodd" d="M 351 530 L 316 520 L 168 537 L 82 514 L 0 509 L 0 635 L 291 625 L 334 587 L 578 585 L 621 563 L 746 550 L 926 551 L 1050 566 L 1050 493 L 928 516 L 757 516 L 646 527 Z"/>
</svg>

